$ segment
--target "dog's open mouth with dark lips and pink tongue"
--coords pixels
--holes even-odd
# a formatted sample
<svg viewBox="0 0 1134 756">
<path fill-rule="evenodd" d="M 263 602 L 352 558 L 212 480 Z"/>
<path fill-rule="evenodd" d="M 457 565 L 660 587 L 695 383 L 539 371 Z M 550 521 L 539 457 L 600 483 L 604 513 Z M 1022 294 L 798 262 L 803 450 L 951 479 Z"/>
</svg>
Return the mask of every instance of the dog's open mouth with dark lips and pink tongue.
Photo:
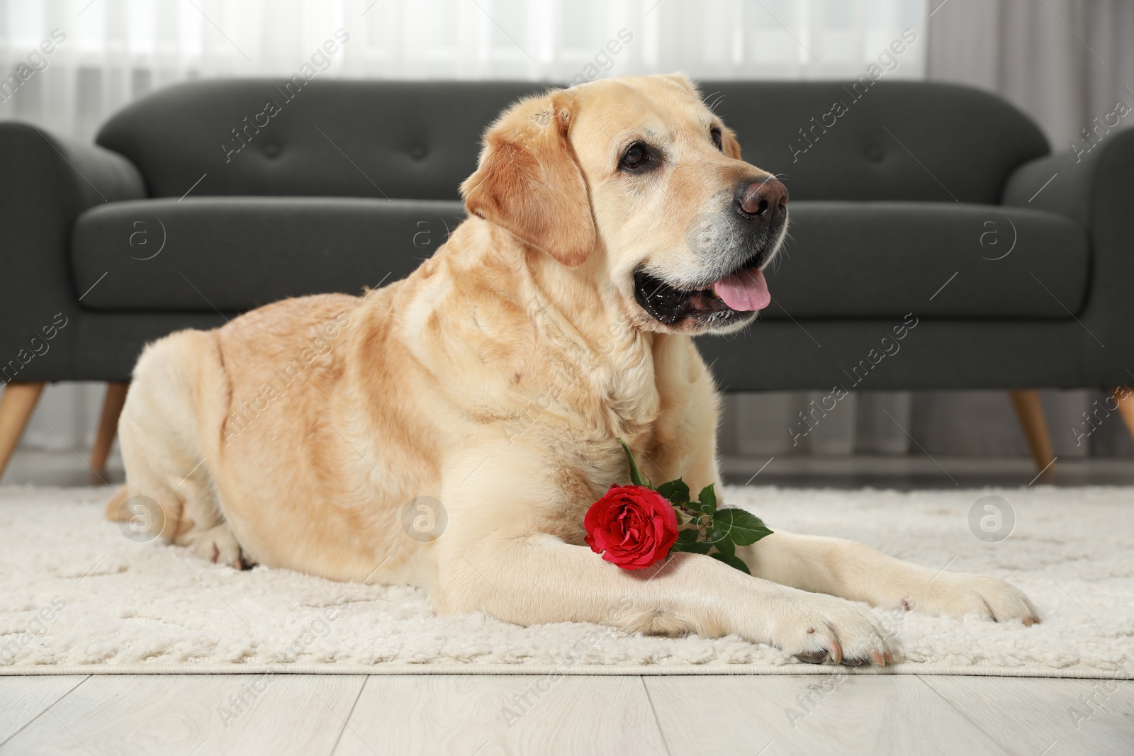
<svg viewBox="0 0 1134 756">
<path fill-rule="evenodd" d="M 725 278 L 696 289 L 678 289 L 638 271 L 634 274 L 634 297 L 644 311 L 666 325 L 686 317 L 703 323 L 746 317 L 771 303 L 760 257 L 763 255 L 756 255 Z"/>
</svg>

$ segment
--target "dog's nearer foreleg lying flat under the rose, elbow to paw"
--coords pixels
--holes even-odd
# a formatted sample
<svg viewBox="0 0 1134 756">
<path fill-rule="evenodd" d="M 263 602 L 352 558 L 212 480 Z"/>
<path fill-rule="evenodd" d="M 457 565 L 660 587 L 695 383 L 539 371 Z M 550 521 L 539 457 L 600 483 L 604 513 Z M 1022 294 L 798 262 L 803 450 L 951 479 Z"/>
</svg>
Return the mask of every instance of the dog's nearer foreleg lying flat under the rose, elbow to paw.
<svg viewBox="0 0 1134 756">
<path fill-rule="evenodd" d="M 627 571 L 551 535 L 491 540 L 440 564 L 441 611 L 483 611 L 518 625 L 598 622 L 657 635 L 735 634 L 807 661 L 885 663 L 887 637 L 868 610 L 750 577 L 709 557 L 674 554 Z"/>
</svg>

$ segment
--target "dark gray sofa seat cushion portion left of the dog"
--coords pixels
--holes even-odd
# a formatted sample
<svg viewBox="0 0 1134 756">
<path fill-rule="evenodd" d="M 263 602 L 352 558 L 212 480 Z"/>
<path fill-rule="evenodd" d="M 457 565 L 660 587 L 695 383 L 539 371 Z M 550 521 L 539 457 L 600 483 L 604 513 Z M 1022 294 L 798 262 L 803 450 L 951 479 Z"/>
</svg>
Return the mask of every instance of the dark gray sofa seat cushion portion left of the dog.
<svg viewBox="0 0 1134 756">
<path fill-rule="evenodd" d="M 361 294 L 409 274 L 464 214 L 459 202 L 424 199 L 109 203 L 75 223 L 76 296 L 92 309 L 212 313 L 308 294 Z"/>
</svg>

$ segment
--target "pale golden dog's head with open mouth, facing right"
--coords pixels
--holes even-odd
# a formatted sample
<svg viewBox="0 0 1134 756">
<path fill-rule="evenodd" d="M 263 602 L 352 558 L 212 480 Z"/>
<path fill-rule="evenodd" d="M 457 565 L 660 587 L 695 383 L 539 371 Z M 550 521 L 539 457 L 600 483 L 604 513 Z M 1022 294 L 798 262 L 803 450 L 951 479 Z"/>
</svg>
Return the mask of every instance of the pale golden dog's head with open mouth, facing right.
<svg viewBox="0 0 1134 756">
<path fill-rule="evenodd" d="M 612 287 L 642 328 L 722 332 L 768 306 L 787 189 L 680 75 L 593 82 L 493 124 L 465 206 Z"/>
</svg>

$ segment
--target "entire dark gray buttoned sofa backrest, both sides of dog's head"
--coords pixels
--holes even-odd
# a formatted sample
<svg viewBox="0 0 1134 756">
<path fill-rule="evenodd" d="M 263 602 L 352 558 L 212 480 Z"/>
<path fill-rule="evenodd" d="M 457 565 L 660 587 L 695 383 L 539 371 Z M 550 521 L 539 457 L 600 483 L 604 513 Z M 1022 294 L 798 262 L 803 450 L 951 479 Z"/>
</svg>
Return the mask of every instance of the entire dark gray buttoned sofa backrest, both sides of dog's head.
<svg viewBox="0 0 1134 756">
<path fill-rule="evenodd" d="M 210 79 L 116 113 L 100 145 L 151 196 L 457 199 L 481 136 L 534 82 Z M 703 82 L 744 159 L 786 173 L 793 199 L 996 203 L 1012 169 L 1048 152 L 1025 114 L 934 82 Z M 269 105 L 273 105 L 269 108 Z"/>
</svg>

